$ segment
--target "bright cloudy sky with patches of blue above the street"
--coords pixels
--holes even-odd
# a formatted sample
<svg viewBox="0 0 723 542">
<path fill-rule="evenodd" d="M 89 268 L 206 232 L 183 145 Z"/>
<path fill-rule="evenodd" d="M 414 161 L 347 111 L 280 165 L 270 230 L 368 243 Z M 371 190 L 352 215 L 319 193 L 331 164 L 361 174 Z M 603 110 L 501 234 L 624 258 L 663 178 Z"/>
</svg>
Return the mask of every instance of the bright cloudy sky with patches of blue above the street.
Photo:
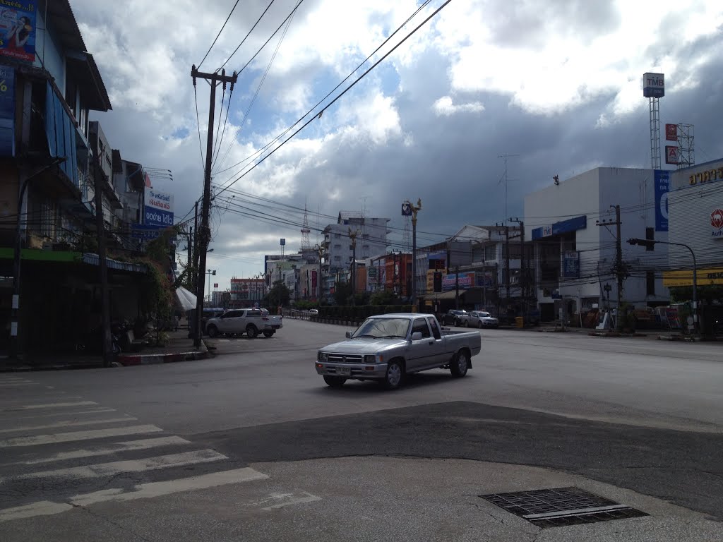
<svg viewBox="0 0 723 542">
<path fill-rule="evenodd" d="M 210 91 L 197 82 L 199 123 L 191 66 L 236 0 L 71 3 L 113 104 L 95 119 L 124 158 L 173 171 L 154 187 L 173 192 L 176 219 L 187 218 L 202 192 Z M 317 225 L 351 211 L 390 218 L 398 249 L 405 199 L 422 199 L 422 246 L 465 224 L 521 217 L 524 194 L 553 175 L 649 167 L 643 72 L 665 74 L 661 121 L 695 125 L 696 160 L 723 156 L 718 0 L 452 0 L 329 105 L 444 3 L 415 14 L 422 2 L 238 2 L 200 64 L 239 72 L 223 107 L 220 87 L 216 100 L 208 267 L 222 289 L 262 272 L 280 238 L 297 251 L 304 207 L 312 244 Z M 501 155 L 510 155 L 506 203 Z"/>
</svg>

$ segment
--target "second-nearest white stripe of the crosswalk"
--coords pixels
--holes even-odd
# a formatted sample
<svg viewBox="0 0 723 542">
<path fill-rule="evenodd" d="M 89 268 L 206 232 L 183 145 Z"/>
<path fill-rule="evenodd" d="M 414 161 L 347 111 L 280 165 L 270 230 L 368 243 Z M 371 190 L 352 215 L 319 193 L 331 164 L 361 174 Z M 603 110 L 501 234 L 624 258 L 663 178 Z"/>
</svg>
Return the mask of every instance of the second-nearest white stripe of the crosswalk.
<svg viewBox="0 0 723 542">
<path fill-rule="evenodd" d="M 182 452 L 180 454 L 158 455 L 156 457 L 145 457 L 140 460 L 113 461 L 111 463 L 97 463 L 83 467 L 60 468 L 57 470 L 41 470 L 35 473 L 11 476 L 13 480 L 26 480 L 28 478 L 97 478 L 98 476 L 114 476 L 119 473 L 141 473 L 144 470 L 158 470 L 161 468 L 182 467 L 184 465 L 196 465 L 197 463 L 211 463 L 228 459 L 223 454 L 213 449 L 200 449 L 194 452 Z"/>
</svg>

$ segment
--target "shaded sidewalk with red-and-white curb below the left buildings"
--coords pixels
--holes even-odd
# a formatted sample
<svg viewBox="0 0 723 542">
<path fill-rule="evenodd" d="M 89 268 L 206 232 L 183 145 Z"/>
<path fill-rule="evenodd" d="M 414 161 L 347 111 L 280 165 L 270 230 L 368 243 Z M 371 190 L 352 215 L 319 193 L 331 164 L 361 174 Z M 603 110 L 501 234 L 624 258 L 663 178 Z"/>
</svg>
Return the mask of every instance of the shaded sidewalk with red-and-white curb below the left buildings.
<svg viewBox="0 0 723 542">
<path fill-rule="evenodd" d="M 207 359 L 213 356 L 203 342 L 200 348 L 194 347 L 193 339 L 188 338 L 186 327 L 166 333 L 168 333 L 168 345 L 144 346 L 138 352 L 120 353 L 116 356 L 113 366 L 168 364 L 177 361 Z M 100 355 L 38 354 L 26 356 L 20 360 L 10 360 L 7 356 L 0 356 L 0 372 L 97 369 L 102 366 L 103 358 Z"/>
</svg>

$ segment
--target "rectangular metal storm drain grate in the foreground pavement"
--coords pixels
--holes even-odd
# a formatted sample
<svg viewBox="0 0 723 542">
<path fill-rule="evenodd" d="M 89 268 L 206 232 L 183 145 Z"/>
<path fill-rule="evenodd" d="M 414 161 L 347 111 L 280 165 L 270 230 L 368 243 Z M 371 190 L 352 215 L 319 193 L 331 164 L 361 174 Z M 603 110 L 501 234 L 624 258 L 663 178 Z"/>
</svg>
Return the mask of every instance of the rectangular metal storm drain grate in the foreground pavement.
<svg viewBox="0 0 723 542">
<path fill-rule="evenodd" d="M 563 527 L 647 515 L 576 487 L 495 493 L 480 497 L 538 527 Z"/>
</svg>

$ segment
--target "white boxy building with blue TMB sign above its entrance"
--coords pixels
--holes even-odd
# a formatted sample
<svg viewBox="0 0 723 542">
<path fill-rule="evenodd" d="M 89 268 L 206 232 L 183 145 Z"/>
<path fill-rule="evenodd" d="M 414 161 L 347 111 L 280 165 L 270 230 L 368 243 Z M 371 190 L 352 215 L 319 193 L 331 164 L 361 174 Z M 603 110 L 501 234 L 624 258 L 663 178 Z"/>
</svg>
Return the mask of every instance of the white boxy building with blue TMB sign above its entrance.
<svg viewBox="0 0 723 542">
<path fill-rule="evenodd" d="M 543 321 L 579 318 L 606 305 L 607 296 L 615 307 L 615 205 L 628 275 L 623 301 L 636 307 L 669 302 L 660 273 L 667 246 L 641 251 L 626 242 L 667 241 L 667 223 L 656 220 L 661 195 L 655 181 L 651 169 L 595 168 L 525 197 L 525 238 L 534 246 L 534 291 Z"/>
</svg>

